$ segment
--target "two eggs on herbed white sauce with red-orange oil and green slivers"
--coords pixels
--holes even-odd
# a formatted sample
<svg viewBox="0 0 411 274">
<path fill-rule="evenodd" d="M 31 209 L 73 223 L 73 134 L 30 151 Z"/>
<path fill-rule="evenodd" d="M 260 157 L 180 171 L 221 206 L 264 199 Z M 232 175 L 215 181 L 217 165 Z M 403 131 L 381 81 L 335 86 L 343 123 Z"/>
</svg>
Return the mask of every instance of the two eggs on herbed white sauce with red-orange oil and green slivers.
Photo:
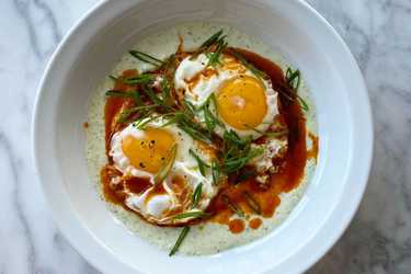
<svg viewBox="0 0 411 274">
<path fill-rule="evenodd" d="M 300 71 L 261 48 L 228 26 L 178 25 L 130 49 L 91 104 L 89 165 L 103 198 L 170 254 L 216 253 L 266 235 L 315 168 Z M 190 235 L 196 240 L 183 249 Z"/>
</svg>

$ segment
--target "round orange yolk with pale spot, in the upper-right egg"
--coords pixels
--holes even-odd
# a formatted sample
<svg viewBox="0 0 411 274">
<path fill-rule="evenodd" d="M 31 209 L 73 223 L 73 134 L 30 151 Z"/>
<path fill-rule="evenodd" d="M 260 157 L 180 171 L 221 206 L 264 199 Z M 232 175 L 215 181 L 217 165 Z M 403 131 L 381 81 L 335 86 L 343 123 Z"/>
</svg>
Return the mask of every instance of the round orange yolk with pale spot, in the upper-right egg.
<svg viewBox="0 0 411 274">
<path fill-rule="evenodd" d="M 218 90 L 216 99 L 218 114 L 237 129 L 256 127 L 267 112 L 264 85 L 250 76 L 227 80 Z"/>
</svg>

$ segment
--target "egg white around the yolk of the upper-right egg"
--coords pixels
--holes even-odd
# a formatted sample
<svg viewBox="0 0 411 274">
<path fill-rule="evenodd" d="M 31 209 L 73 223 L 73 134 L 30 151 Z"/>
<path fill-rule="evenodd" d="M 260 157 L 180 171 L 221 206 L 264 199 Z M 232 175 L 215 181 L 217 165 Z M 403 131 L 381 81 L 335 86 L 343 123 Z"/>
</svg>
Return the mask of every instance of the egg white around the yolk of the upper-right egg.
<svg viewBox="0 0 411 274">
<path fill-rule="evenodd" d="M 220 61 L 224 62 L 224 59 L 220 58 Z M 217 71 L 216 73 L 212 75 L 210 77 L 201 76 L 195 85 L 191 88 L 189 82 L 205 69 L 209 69 L 209 66 L 207 66 L 207 64 L 208 57 L 205 54 L 201 54 L 195 58 L 189 56 L 181 61 L 175 70 L 175 89 L 183 90 L 184 98 L 196 107 L 202 106 L 207 101 L 209 95 L 216 92 L 221 83 L 229 79 L 236 78 L 241 75 L 256 78 L 256 76 L 250 69 L 242 65 L 240 65 L 237 69 L 225 69 L 224 66 L 216 66 L 213 67 L 213 69 Z M 262 133 L 264 133 L 270 127 L 274 117 L 279 114 L 277 92 L 274 91 L 270 80 L 261 79 L 261 81 L 265 90 L 267 112 L 260 125 L 258 125 L 255 128 L 238 129 L 233 128 L 228 123 L 221 119 L 227 129 L 235 130 L 240 137 L 252 136 L 253 139 L 261 137 Z M 216 114 L 215 109 L 213 109 L 212 111 L 214 111 L 214 113 Z M 218 116 L 218 114 L 216 115 Z M 202 117 L 202 113 L 199 113 L 199 118 L 204 118 Z M 222 136 L 224 128 L 217 127 L 216 134 Z"/>
</svg>

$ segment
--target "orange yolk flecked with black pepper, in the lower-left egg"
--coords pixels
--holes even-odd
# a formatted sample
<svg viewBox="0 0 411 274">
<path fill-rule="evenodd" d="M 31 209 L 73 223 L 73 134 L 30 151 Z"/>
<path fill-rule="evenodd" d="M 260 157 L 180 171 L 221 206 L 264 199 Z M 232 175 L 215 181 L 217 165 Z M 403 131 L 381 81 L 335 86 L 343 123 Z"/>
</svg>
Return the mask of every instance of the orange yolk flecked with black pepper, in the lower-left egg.
<svg viewBox="0 0 411 274">
<path fill-rule="evenodd" d="M 141 138 L 125 137 L 122 148 L 133 167 L 155 174 L 168 160 L 174 144 L 174 136 L 168 130 L 148 127 Z"/>
</svg>

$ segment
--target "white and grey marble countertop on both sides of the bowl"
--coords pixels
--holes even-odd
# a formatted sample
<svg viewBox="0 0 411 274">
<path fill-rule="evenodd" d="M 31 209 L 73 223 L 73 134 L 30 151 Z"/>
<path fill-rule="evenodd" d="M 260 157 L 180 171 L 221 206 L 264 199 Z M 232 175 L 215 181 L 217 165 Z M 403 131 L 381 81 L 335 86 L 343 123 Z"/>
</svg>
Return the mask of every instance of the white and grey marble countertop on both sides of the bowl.
<svg viewBox="0 0 411 274">
<path fill-rule="evenodd" d="M 99 273 L 56 229 L 34 173 L 31 119 L 45 65 L 96 0 L 0 1 L 0 273 Z M 375 155 L 361 208 L 309 273 L 411 273 L 411 1 L 308 0 L 359 62 Z"/>
</svg>

